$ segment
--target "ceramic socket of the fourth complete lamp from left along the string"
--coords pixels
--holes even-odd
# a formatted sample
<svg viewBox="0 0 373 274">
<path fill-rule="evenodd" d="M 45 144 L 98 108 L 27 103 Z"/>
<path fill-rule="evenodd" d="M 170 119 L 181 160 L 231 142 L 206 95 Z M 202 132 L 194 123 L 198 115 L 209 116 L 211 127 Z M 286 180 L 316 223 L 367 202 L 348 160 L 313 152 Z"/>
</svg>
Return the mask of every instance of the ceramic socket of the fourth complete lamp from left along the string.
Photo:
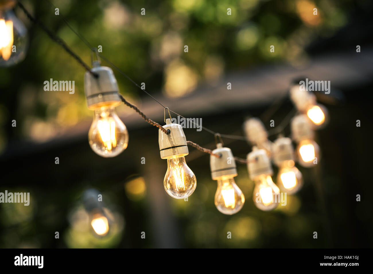
<svg viewBox="0 0 373 274">
<path fill-rule="evenodd" d="M 247 163 L 251 180 L 256 180 L 262 174 L 271 176 L 273 174 L 271 161 L 264 149 L 253 147 L 253 151 L 247 154 Z"/>
</svg>

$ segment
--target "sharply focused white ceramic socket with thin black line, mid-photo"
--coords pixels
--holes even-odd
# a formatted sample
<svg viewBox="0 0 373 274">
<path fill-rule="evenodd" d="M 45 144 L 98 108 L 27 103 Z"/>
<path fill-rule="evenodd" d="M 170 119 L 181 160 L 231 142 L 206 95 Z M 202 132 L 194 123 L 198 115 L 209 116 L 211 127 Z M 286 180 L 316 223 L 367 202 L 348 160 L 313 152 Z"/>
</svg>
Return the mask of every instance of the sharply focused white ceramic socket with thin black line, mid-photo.
<svg viewBox="0 0 373 274">
<path fill-rule="evenodd" d="M 170 133 L 166 134 L 159 130 L 158 142 L 161 158 L 168 159 L 188 155 L 188 146 L 181 125 L 171 123 L 171 119 L 166 119 L 166 125 L 163 128 L 170 130 Z"/>
</svg>

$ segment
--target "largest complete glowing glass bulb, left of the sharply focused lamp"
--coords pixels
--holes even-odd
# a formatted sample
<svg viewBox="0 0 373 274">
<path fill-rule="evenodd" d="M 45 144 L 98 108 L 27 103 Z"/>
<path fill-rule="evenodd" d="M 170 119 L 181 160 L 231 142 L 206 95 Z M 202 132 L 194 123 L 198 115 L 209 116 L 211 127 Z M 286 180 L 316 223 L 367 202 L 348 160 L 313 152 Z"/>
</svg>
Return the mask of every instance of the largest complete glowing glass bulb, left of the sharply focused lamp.
<svg viewBox="0 0 373 274">
<path fill-rule="evenodd" d="M 93 151 L 102 157 L 115 157 L 127 148 L 128 131 L 115 107 L 109 105 L 94 110 L 88 139 Z"/>
</svg>

